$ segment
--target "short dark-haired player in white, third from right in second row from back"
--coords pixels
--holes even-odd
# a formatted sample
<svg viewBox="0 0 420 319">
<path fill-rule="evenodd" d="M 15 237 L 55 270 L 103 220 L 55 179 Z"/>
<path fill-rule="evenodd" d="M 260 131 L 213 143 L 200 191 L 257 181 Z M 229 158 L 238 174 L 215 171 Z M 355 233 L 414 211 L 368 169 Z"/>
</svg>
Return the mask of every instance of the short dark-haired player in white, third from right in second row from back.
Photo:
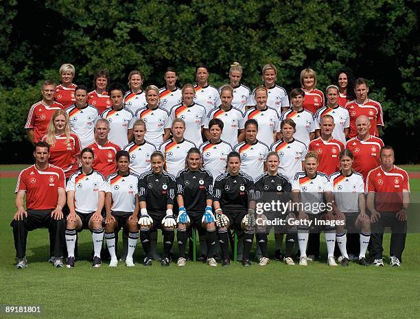
<svg viewBox="0 0 420 319">
<path fill-rule="evenodd" d="M 281 121 L 283 119 L 292 119 L 296 123 L 294 138 L 305 143 L 307 147 L 315 137 L 316 123 L 314 115 L 303 108 L 305 91 L 301 88 L 294 88 L 290 91 L 290 99 L 292 100 L 292 106 L 281 114 Z"/>
</svg>

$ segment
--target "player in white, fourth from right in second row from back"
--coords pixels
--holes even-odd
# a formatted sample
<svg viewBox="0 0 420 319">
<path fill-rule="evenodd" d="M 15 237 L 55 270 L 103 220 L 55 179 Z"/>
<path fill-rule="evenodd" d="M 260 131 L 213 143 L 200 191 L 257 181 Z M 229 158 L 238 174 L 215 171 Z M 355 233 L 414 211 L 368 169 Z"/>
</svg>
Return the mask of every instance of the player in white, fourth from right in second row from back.
<svg viewBox="0 0 420 319">
<path fill-rule="evenodd" d="M 244 124 L 248 119 L 255 119 L 258 122 L 259 130 L 257 138 L 266 145 L 271 145 L 277 141 L 277 132 L 279 132 L 279 113 L 274 108 L 267 106 L 267 91 L 260 85 L 255 88 L 256 105 L 246 111 L 240 129 L 244 129 Z M 239 140 L 242 141 L 244 132 L 242 131 Z"/>
</svg>

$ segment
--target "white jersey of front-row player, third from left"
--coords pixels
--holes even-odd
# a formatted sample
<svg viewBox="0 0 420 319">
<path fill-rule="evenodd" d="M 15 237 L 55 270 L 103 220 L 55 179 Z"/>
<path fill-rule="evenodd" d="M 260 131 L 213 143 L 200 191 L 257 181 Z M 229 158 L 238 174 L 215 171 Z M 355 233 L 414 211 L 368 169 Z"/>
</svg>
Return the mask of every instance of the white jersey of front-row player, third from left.
<svg viewBox="0 0 420 319">
<path fill-rule="evenodd" d="M 117 172 L 110 174 L 106 179 L 108 193 L 113 196 L 111 211 L 132 213 L 136 208 L 136 195 L 139 192 L 139 176 L 128 174 L 121 176 Z"/>
</svg>

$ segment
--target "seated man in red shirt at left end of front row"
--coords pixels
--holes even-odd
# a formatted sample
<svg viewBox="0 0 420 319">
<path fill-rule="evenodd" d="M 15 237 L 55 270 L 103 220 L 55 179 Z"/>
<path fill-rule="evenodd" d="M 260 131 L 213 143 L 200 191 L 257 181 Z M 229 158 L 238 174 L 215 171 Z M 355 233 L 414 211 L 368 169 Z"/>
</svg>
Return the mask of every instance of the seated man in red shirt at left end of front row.
<svg viewBox="0 0 420 319">
<path fill-rule="evenodd" d="M 49 145 L 38 142 L 34 147 L 35 165 L 23 169 L 16 185 L 16 213 L 10 226 L 13 227 L 16 248 L 16 269 L 26 268 L 27 232 L 47 227 L 54 243 L 54 267 L 62 267 L 65 236 L 65 219 L 62 207 L 66 202 L 65 174 L 54 165 L 49 165 Z M 26 194 L 26 209 L 24 200 Z"/>
</svg>

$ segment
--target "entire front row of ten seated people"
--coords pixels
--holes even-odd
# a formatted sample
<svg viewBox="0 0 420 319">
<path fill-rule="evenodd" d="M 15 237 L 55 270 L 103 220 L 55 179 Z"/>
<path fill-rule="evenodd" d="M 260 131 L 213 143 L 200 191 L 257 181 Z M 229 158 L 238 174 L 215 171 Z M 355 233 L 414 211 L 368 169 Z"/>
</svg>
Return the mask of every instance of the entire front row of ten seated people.
<svg viewBox="0 0 420 319">
<path fill-rule="evenodd" d="M 129 248 L 126 265 L 134 266 L 132 254 L 137 244 L 140 231 L 141 244 L 145 252 L 144 265 L 151 265 L 150 230 L 161 228 L 164 235 L 164 253 L 161 265 L 170 264 L 169 254 L 174 241 L 174 228 L 178 224 L 178 245 L 180 257 L 177 265 L 185 266 L 186 229 L 194 225 L 202 227 L 207 236 L 207 248 L 210 266 L 217 263 L 213 256 L 215 242 L 218 237 L 222 250 L 222 265 L 229 265 L 228 228 L 237 231 L 244 230 L 244 257 L 242 264 L 251 265 L 250 248 L 254 234 L 262 257 L 259 265 L 269 261 L 267 250 L 267 234 L 270 223 L 267 221 L 287 220 L 285 232 L 289 239 L 286 244 L 285 263 L 294 265 L 292 259 L 293 244 L 297 239 L 301 256 L 300 265 L 307 265 L 306 245 L 309 236 L 309 224 L 305 221 L 327 220 L 330 224 L 321 226 L 325 230 L 327 242 L 328 263 L 336 266 L 334 260 L 334 245 L 337 237 L 338 247 L 342 253 L 342 265 L 348 265 L 346 252 L 345 224 L 355 227 L 360 232 L 359 263 L 368 265 L 365 259 L 369 244 L 370 228 L 371 258 L 377 266 L 384 265 L 382 261 L 382 235 L 384 226 L 391 226 L 390 255 L 391 265 L 399 266 L 404 250 L 406 237 L 406 209 L 408 209 L 408 175 L 402 169 L 393 165 L 392 147 L 382 147 L 380 150 L 381 166 L 371 170 L 366 185 L 367 208 L 364 200 L 364 181 L 361 174 L 353 172 L 353 154 L 343 150 L 339 154 L 340 171 L 331 175 L 331 179 L 317 171 L 318 155 L 308 152 L 305 155 L 305 168 L 294 176 L 292 183 L 279 174 L 279 154 L 270 152 L 266 156 L 267 172 L 253 182 L 253 178 L 241 170 L 241 156 L 238 152 L 230 152 L 227 156 L 226 172 L 215 178 L 207 170 L 200 168 L 202 159 L 200 150 L 192 147 L 185 158 L 185 169 L 178 173 L 177 178 L 165 172 L 165 157 L 161 152 L 153 152 L 150 156 L 152 169 L 141 176 L 130 172 L 130 155 L 126 151 L 117 152 L 117 172 L 108 176 L 105 181 L 102 174 L 92 167 L 95 153 L 89 148 L 81 152 L 82 167 L 73 174 L 67 182 L 67 204 L 69 215 L 65 220 L 62 207 L 65 203 L 65 176 L 62 169 L 49 165 L 49 145 L 45 142 L 36 143 L 34 149 L 36 163 L 21 172 L 16 187 L 16 214 L 11 226 L 14 228 L 14 241 L 18 263 L 16 268 L 25 268 L 25 246 L 27 232 L 47 225 L 54 237 L 54 265 L 62 266 L 62 239 L 66 239 L 69 254 L 67 267 L 75 264 L 74 250 L 76 231 L 91 229 L 94 258 L 93 266 L 100 267 L 100 252 L 102 240 L 105 238 L 110 251 L 110 267 L 117 266 L 115 255 L 115 228 L 126 228 L 129 232 Z M 377 174 L 379 173 L 379 174 Z M 382 174 L 381 174 L 382 173 Z M 379 176 L 379 177 L 378 177 Z M 395 177 L 398 176 L 398 177 Z M 399 178 L 398 182 L 394 181 Z M 385 180 L 385 182 L 384 182 Z M 399 187 L 389 186 L 395 182 Z M 48 186 L 47 186 L 48 185 Z M 388 185 L 388 186 L 386 186 Z M 293 203 L 310 203 L 310 209 L 301 205 L 292 206 L 277 212 L 258 208 L 258 204 L 266 204 L 266 196 L 277 198 L 280 202 L 290 202 L 290 190 Z M 390 192 L 385 193 L 385 192 Z M 27 194 L 27 211 L 23 209 L 23 200 Z M 393 196 L 394 194 L 395 196 Z M 274 197 L 271 197 L 274 196 Z M 327 209 L 320 208 L 325 202 Z M 174 214 L 174 204 L 178 204 L 178 216 Z M 329 207 L 328 204 L 331 204 Z M 41 208 L 42 206 L 42 208 Z M 106 208 L 106 217 L 102 216 L 102 208 Z M 328 208 L 329 207 L 329 208 Z M 261 206 L 260 206 L 261 208 Z M 42 210 L 40 210 L 42 209 Z M 214 214 L 213 214 L 214 209 Z M 139 214 L 140 212 L 140 214 Z M 299 224 L 296 222 L 299 221 Z M 340 226 L 332 221 L 343 221 Z M 372 223 L 372 224 L 371 224 Z M 64 225 L 66 225 L 64 236 Z M 139 225 L 139 226 L 137 226 Z M 319 227 L 316 225 L 316 227 Z M 118 229 L 117 228 L 117 229 Z"/>
</svg>

